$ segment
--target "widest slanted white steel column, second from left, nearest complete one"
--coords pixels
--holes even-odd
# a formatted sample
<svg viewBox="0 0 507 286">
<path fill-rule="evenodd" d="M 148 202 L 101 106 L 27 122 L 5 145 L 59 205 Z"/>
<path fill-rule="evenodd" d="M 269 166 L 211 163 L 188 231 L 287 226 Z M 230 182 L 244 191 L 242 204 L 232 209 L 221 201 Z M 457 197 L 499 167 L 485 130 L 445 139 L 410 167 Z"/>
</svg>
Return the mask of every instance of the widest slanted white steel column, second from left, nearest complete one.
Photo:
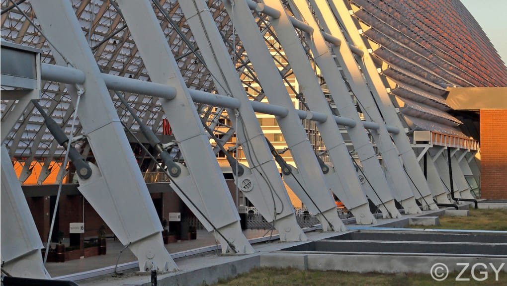
<svg viewBox="0 0 507 286">
<path fill-rule="evenodd" d="M 98 167 L 90 164 L 93 174 L 79 179 L 79 190 L 122 244 L 129 246 L 141 271 L 176 270 L 164 247 L 150 193 L 71 3 L 32 1 L 31 6 L 44 37 L 54 45 L 56 62 L 71 63 L 86 74 L 78 116 Z M 67 89 L 76 105 L 76 86 L 67 85 Z"/>
</svg>

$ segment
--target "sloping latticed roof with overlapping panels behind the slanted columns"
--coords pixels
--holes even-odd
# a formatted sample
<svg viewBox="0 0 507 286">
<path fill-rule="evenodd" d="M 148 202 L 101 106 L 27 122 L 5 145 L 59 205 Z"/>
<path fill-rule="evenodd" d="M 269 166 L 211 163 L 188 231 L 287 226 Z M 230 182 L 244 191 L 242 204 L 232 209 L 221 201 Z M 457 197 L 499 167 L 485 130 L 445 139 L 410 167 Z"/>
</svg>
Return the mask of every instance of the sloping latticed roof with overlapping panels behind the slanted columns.
<svg viewBox="0 0 507 286">
<path fill-rule="evenodd" d="M 114 1 L 71 2 L 102 72 L 150 80 L 121 11 Z M 290 10 L 289 5 L 283 2 L 286 9 Z M 29 1 L 17 0 L 16 3 L 19 3 L 21 11 L 13 7 L 10 0 L 2 1 L 2 39 L 40 48 L 44 52 L 43 62 L 54 64 L 47 41 L 27 19 L 28 17 L 38 25 L 37 15 L 33 13 Z M 230 21 L 222 1 L 208 0 L 207 3 L 229 54 L 236 63 L 240 78 L 243 84 L 249 87 L 248 95 L 252 100 L 262 100 L 264 94 L 259 88 L 255 71 L 248 63 L 248 56 L 239 38 L 232 32 L 234 23 Z M 354 16 L 363 23 L 365 35 L 372 45 L 378 44 L 376 47 L 372 46 L 373 54 L 383 61 L 383 64 L 379 61 L 382 74 L 390 79 L 387 85 L 391 88 L 391 94 L 396 97 L 413 130 L 434 130 L 465 136 L 457 128 L 461 122 L 448 113 L 451 107 L 444 99 L 445 87 L 494 87 L 507 84 L 507 69 L 480 26 L 459 1 L 439 1 L 438 5 L 442 4 L 439 6 L 442 8 L 440 10 L 430 7 L 432 4 L 426 1 L 399 0 L 387 4 L 382 0 L 351 0 L 351 3 Z M 152 7 L 187 86 L 213 92 L 215 88 L 212 74 L 199 56 L 199 47 L 194 43 L 192 31 L 177 1 L 153 0 Z M 432 15 L 429 11 L 438 13 Z M 284 53 L 277 45 L 276 35 L 270 29 L 269 21 L 266 21 L 264 15 L 254 13 L 274 61 L 288 87 L 297 94 L 298 88 L 287 79 L 292 74 L 291 67 L 284 60 Z M 445 15 L 449 13 L 454 17 L 446 18 Z M 453 27 L 459 29 L 452 31 Z M 301 38 L 305 45 L 302 35 Z M 308 56 L 311 59 L 309 52 Z M 111 92 L 111 96 L 124 125 L 134 132 L 137 131 L 139 126 L 121 105 L 117 95 Z M 162 119 L 165 116 L 157 98 L 130 93 L 124 94 L 124 97 L 145 124 L 157 134 L 162 134 Z M 14 104 L 13 101 L 2 101 L 2 116 L 7 114 Z M 40 104 L 69 134 L 74 108 L 65 85 L 49 81 L 43 83 Z M 219 120 L 227 117 L 223 108 L 204 104 L 196 104 L 196 108 L 215 131 L 223 133 L 221 140 L 225 142 L 233 135 L 232 127 Z M 75 134 L 81 135 L 79 121 Z M 33 105 L 27 107 L 6 142 L 10 148 L 10 156 L 26 164 L 33 164 L 34 161 L 63 160 L 63 148 L 58 146 L 46 129 L 43 117 Z M 78 149 L 85 149 L 84 140 L 78 140 L 76 145 Z"/>
</svg>

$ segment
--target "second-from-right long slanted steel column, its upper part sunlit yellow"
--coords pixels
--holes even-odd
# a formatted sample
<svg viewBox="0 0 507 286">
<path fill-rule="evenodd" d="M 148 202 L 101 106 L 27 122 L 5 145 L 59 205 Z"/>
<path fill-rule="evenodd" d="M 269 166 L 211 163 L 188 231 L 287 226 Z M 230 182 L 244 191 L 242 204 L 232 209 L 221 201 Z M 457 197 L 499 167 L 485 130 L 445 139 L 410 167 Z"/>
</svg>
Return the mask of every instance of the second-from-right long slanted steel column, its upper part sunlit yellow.
<svg viewBox="0 0 507 286">
<path fill-rule="evenodd" d="M 355 60 L 355 55 L 352 53 L 329 5 L 325 1 L 311 0 L 311 3 L 323 30 L 341 40 L 342 45 L 339 47 L 332 45 L 331 47 L 335 52 L 340 65 L 343 67 L 343 71 L 355 97 L 360 102 L 361 109 L 365 109 L 363 112 L 369 120 L 373 120 L 379 124 L 378 130 L 370 130 L 370 132 L 374 137 L 377 147 L 382 154 L 382 159 L 387 166 L 386 171 L 388 172 L 388 176 L 392 178 L 392 187 L 397 189 L 397 193 L 405 194 L 405 196 L 407 196 L 407 190 L 410 192 L 413 191 L 413 195 L 415 198 L 419 199 L 423 209 L 438 209 L 437 205 L 435 205 L 433 199 L 431 198 L 431 192 L 427 185 L 423 185 L 423 188 L 420 188 L 417 185 L 416 180 L 412 179 L 415 184 L 415 189 L 412 189 L 412 181 L 410 180 L 411 178 L 408 177 L 407 172 L 404 170 L 403 162 L 400 160 L 400 153 L 392 142 L 391 136 L 384 125 L 382 115 L 375 104 L 375 100 L 371 96 L 370 88 L 366 85 L 363 73 L 359 70 Z M 402 131 L 403 129 L 400 130 L 400 132 Z M 421 172 L 421 176 L 422 175 L 423 174 Z M 422 177 L 422 180 L 420 180 L 419 183 L 424 182 L 424 177 Z M 403 200 L 401 200 L 401 203 L 405 207 Z"/>
</svg>

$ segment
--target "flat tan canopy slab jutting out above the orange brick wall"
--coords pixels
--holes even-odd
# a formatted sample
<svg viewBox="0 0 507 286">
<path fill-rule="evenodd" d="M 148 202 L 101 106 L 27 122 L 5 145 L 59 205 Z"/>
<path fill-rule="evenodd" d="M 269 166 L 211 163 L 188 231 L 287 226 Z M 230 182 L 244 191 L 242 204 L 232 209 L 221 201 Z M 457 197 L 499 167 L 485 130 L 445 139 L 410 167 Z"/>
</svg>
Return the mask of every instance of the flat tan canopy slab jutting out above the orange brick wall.
<svg viewBox="0 0 507 286">
<path fill-rule="evenodd" d="M 455 110 L 507 109 L 507 88 L 447 88 Z"/>
</svg>

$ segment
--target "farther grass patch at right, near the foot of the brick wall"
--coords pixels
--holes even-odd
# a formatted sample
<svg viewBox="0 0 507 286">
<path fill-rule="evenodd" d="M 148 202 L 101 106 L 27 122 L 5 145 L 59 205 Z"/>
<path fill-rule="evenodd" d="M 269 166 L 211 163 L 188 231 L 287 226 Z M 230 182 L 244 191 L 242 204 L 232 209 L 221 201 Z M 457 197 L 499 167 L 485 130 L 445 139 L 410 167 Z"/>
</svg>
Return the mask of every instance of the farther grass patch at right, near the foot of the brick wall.
<svg viewBox="0 0 507 286">
<path fill-rule="evenodd" d="M 475 229 L 507 231 L 507 209 L 470 208 L 468 217 L 440 217 L 439 226 L 409 225 L 409 228 Z"/>
</svg>

